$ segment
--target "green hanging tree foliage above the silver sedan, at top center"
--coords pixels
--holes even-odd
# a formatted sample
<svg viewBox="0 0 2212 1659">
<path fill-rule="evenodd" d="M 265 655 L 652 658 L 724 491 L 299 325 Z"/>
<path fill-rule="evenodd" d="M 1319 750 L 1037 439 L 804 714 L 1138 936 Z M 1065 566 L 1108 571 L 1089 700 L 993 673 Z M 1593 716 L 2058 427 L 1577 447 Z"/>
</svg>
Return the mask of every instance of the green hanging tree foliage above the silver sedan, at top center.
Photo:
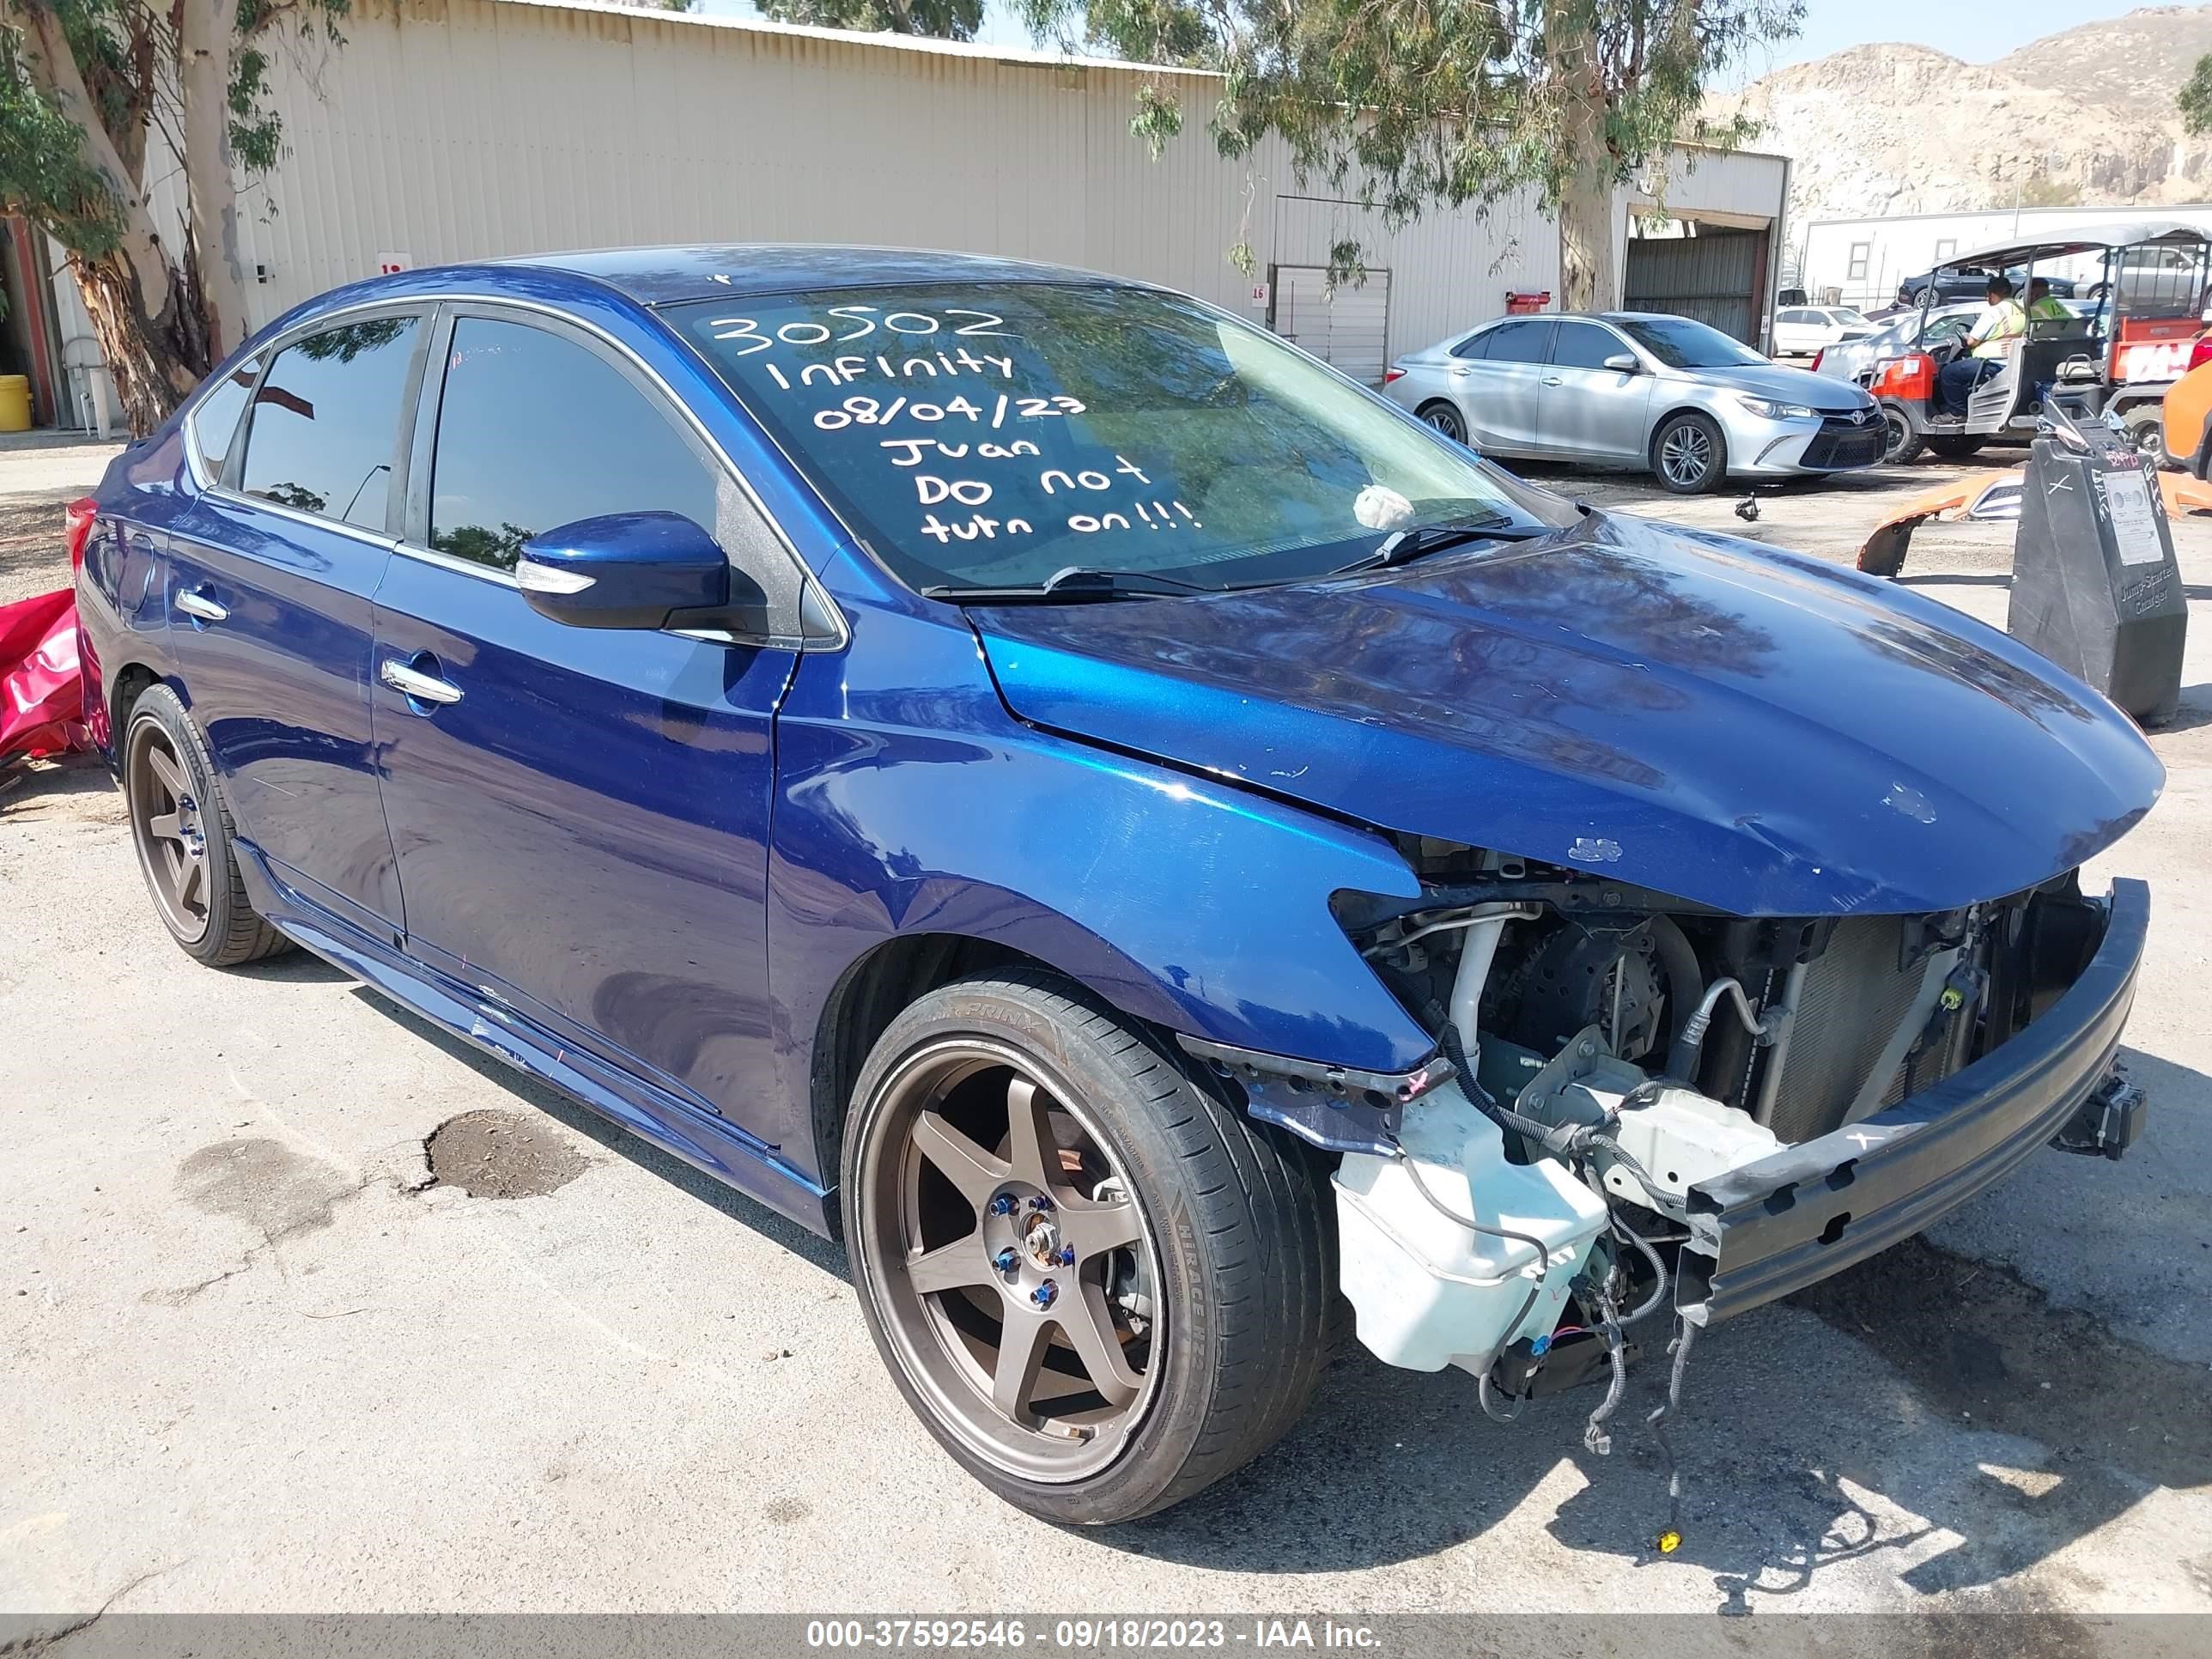
<svg viewBox="0 0 2212 1659">
<path fill-rule="evenodd" d="M 1223 155 L 1276 133 L 1301 179 L 1389 226 L 1528 186 L 1555 208 L 1577 170 L 1619 184 L 1681 139 L 1743 144 L 1747 119 L 1701 115 L 1705 84 L 1805 15 L 1803 0 L 1018 0 L 1018 11 L 1040 38 L 1221 71 L 1210 131 Z M 1577 139 L 1593 106 L 1595 155 Z M 1144 86 L 1130 128 L 1157 150 L 1179 126 L 1172 93 Z"/>
</svg>

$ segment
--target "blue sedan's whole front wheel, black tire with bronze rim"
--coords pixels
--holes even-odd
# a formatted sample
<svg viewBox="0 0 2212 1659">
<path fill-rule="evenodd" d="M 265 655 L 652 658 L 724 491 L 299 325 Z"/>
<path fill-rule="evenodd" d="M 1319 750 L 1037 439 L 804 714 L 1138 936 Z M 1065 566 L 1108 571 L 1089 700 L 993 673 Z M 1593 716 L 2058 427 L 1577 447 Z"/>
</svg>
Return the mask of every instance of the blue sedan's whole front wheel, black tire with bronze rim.
<svg viewBox="0 0 2212 1659">
<path fill-rule="evenodd" d="M 1033 1144 L 1018 1121 L 1042 1124 Z M 1305 1157 L 1270 1135 L 1053 973 L 960 980 L 891 1020 L 854 1088 L 845 1239 L 876 1352 L 969 1473 L 1102 1526 L 1179 1504 L 1298 1420 L 1327 1360 L 1334 1232 Z M 1046 1283 L 1057 1314 L 1037 1312 Z M 1088 1440 L 1048 1433 L 1051 1409 L 1088 1416 Z"/>
</svg>

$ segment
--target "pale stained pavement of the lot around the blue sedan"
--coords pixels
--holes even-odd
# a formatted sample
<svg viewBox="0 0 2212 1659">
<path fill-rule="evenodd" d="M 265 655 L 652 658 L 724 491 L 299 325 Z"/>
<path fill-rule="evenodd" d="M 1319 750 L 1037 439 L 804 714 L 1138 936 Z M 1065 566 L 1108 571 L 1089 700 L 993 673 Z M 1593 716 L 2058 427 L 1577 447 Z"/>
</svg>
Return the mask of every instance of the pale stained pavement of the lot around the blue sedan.
<svg viewBox="0 0 2212 1659">
<path fill-rule="evenodd" d="M 62 580 L 53 509 L 102 456 L 0 453 L 0 599 Z M 1847 555 L 1938 476 L 1785 489 L 1752 526 L 1544 478 Z M 2037 1652 L 2212 1610 L 2212 522 L 2179 540 L 2170 785 L 2093 872 L 2154 887 L 2150 1139 L 2039 1155 L 1703 1338 L 1670 1557 L 1657 1451 L 1586 1455 L 1590 1396 L 1502 1429 L 1358 1347 L 1197 1502 L 1033 1522 L 909 1420 L 832 1245 L 312 958 L 195 967 L 106 776 L 42 768 L 0 796 L 0 1606 L 2031 1610 Z M 1929 526 L 1907 580 L 2002 622 L 2008 544 Z"/>
</svg>

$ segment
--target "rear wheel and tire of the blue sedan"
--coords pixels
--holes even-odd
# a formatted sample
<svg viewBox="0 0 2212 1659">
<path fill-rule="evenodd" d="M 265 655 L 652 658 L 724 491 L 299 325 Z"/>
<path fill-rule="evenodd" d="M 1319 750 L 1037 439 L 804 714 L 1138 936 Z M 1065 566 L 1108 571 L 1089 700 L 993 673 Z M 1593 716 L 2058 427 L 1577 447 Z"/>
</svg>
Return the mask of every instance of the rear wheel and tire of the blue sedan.
<svg viewBox="0 0 2212 1659">
<path fill-rule="evenodd" d="M 155 916 L 186 956 L 237 967 L 290 951 L 246 896 L 230 803 L 208 745 L 168 686 L 148 686 L 124 721 L 124 810 Z"/>
</svg>

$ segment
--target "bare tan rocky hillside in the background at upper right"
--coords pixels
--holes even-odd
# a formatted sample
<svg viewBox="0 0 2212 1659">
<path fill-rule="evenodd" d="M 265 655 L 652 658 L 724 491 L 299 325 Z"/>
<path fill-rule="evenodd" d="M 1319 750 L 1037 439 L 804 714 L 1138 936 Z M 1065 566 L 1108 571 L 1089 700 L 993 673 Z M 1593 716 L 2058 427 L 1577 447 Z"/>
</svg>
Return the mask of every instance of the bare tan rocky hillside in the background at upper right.
<svg viewBox="0 0 2212 1659">
<path fill-rule="evenodd" d="M 1851 46 L 1714 100 L 1796 159 L 1790 215 L 1845 219 L 2011 206 L 2212 199 L 2212 139 L 2174 93 L 2212 51 L 2212 4 L 2148 7 L 2035 40 L 1993 64 Z"/>
</svg>

